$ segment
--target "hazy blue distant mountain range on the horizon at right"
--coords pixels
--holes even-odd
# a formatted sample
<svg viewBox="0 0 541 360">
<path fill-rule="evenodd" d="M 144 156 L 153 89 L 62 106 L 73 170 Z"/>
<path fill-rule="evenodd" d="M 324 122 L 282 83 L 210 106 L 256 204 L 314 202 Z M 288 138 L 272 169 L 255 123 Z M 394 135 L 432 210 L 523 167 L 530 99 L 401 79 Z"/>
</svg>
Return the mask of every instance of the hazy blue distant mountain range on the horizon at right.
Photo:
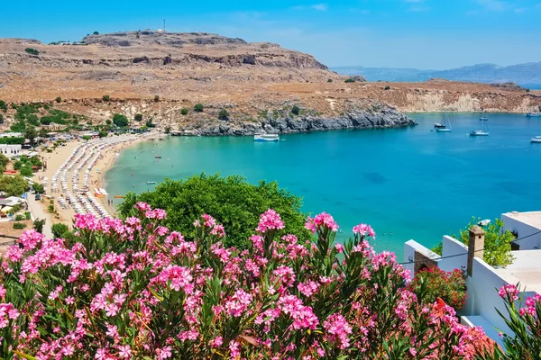
<svg viewBox="0 0 541 360">
<path fill-rule="evenodd" d="M 478 64 L 449 70 L 418 70 L 417 68 L 392 67 L 331 67 L 342 75 L 362 75 L 368 81 L 415 82 L 431 77 L 475 83 L 541 84 L 541 62 L 500 67 L 494 64 Z"/>
</svg>

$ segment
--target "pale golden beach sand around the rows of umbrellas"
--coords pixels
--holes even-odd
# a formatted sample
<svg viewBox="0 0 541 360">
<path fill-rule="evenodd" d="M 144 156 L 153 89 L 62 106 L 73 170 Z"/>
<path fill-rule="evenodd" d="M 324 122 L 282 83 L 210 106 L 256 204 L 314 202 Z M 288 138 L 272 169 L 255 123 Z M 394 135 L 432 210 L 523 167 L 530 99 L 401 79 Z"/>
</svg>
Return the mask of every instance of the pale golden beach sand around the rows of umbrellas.
<svg viewBox="0 0 541 360">
<path fill-rule="evenodd" d="M 113 146 L 111 148 L 105 148 L 102 151 L 101 157 L 98 158 L 96 161 L 96 165 L 93 167 L 92 172 L 90 173 L 89 177 L 89 187 L 91 190 L 94 188 L 104 188 L 105 187 L 105 173 L 106 171 L 115 165 L 116 158 L 120 154 L 122 150 L 125 148 L 131 147 L 140 141 L 147 141 L 150 139 L 158 139 L 162 137 L 163 134 L 155 133 L 151 134 L 145 137 L 138 137 L 137 139 L 134 139 L 130 142 L 122 143 L 116 146 Z M 75 215 L 75 211 L 72 207 L 69 207 L 69 209 L 62 209 L 60 207 L 60 204 L 56 201 L 61 194 L 60 193 L 51 193 L 50 192 L 50 181 L 52 176 L 55 174 L 57 169 L 66 161 L 66 159 L 69 158 L 69 156 L 73 153 L 73 150 L 78 147 L 81 143 L 83 143 L 84 140 L 76 139 L 71 140 L 69 142 L 66 142 L 65 145 L 60 146 L 56 148 L 53 152 L 48 153 L 47 151 L 41 151 L 40 157 L 43 159 L 43 165 L 44 168 L 34 173 L 32 179 L 38 183 L 41 184 L 44 178 L 48 179 L 48 184 L 46 184 L 46 193 L 45 196 L 42 197 L 41 202 L 39 202 L 39 205 L 41 205 L 41 216 L 45 215 L 46 218 L 46 224 L 50 227 L 52 224 L 55 223 L 65 223 L 65 224 L 71 224 L 73 216 Z M 79 172 L 79 186 L 82 187 L 82 182 L 84 178 L 84 170 L 86 167 L 81 169 Z M 69 180 L 69 183 L 71 183 L 71 180 Z M 71 184 L 69 184 L 70 186 Z M 52 196 L 52 199 L 51 199 Z M 109 194 L 107 196 L 113 196 L 113 194 Z M 105 209 L 109 211 L 109 213 L 113 216 L 115 216 L 115 208 L 112 205 L 109 205 L 107 202 L 108 197 L 105 198 L 98 198 L 99 202 L 103 204 Z M 58 211 L 58 214 L 51 214 L 48 210 L 50 205 L 50 200 L 54 203 L 54 208 L 56 211 Z M 33 201 L 33 195 L 32 195 L 32 201 Z"/>
</svg>

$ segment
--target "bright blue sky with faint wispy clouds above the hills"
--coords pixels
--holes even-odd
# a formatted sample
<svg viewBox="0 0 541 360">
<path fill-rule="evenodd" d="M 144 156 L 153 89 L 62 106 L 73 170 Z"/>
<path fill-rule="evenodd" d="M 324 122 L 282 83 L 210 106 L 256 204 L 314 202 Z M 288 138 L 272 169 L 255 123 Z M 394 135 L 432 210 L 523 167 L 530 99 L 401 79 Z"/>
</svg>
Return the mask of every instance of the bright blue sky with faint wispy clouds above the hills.
<svg viewBox="0 0 541 360">
<path fill-rule="evenodd" d="M 322 2 L 320 2 L 322 1 Z M 541 61 L 541 0 L 9 1 L 0 37 L 205 31 L 271 41 L 330 67 L 445 69 Z"/>
</svg>

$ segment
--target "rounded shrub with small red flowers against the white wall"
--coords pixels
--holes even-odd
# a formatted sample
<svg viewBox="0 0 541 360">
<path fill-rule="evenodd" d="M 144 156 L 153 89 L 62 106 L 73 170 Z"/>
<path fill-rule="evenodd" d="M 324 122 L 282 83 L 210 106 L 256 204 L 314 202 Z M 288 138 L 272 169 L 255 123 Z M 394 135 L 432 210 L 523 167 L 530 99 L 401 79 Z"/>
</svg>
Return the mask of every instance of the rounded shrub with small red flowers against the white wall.
<svg viewBox="0 0 541 360">
<path fill-rule="evenodd" d="M 421 289 L 426 291 L 423 297 L 427 302 L 436 302 L 437 298 L 441 298 L 457 311 L 463 308 L 468 298 L 466 275 L 459 269 L 448 273 L 436 266 L 421 270 L 415 275 L 409 287 L 417 294 Z"/>
</svg>

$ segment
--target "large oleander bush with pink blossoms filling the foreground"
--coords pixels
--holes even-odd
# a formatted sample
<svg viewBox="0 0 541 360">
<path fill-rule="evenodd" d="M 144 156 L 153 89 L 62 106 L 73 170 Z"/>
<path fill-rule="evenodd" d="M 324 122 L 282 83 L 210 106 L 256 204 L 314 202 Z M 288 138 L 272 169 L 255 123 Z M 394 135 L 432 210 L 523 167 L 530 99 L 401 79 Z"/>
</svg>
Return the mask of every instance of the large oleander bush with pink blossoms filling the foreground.
<svg viewBox="0 0 541 360">
<path fill-rule="evenodd" d="M 126 220 L 76 215 L 76 235 L 29 230 L 0 260 L 0 356 L 26 359 L 471 359 L 480 329 L 405 286 L 368 225 L 308 218 L 278 237 L 265 211 L 243 251 L 204 214 L 185 234 L 139 202 Z"/>
</svg>

